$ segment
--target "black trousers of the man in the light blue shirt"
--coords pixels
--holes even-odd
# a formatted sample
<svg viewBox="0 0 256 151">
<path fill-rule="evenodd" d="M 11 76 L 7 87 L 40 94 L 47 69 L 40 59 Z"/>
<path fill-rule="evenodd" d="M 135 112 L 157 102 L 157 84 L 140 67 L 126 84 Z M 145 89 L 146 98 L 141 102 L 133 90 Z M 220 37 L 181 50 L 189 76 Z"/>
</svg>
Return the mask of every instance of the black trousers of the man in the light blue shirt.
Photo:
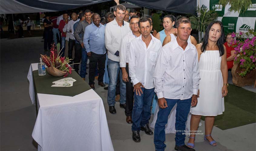
<svg viewBox="0 0 256 151">
<path fill-rule="evenodd" d="M 106 53 L 105 54 L 96 54 L 91 52 L 91 56 L 89 57 L 89 85 L 94 85 L 95 79 L 95 70 L 98 63 L 98 82 L 103 82 L 103 76 L 105 73 L 105 61 L 106 61 Z"/>
</svg>

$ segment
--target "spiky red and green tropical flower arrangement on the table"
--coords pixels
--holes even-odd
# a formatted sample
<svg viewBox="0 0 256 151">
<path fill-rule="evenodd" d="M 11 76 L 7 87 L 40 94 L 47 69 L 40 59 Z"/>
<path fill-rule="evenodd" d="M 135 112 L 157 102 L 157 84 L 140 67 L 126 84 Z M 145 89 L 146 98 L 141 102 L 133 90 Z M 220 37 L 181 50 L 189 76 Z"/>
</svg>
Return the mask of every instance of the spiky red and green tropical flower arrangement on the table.
<svg viewBox="0 0 256 151">
<path fill-rule="evenodd" d="M 68 73 L 72 73 L 71 66 L 69 63 L 72 59 L 69 59 L 68 57 L 61 57 L 62 54 L 60 53 L 60 43 L 57 44 L 57 49 L 54 44 L 52 44 L 52 47 L 50 49 L 50 56 L 42 55 L 42 61 L 45 63 L 46 68 L 51 67 L 51 65 L 61 71 L 66 72 L 66 74 L 63 76 L 64 78 L 68 76 Z"/>
</svg>

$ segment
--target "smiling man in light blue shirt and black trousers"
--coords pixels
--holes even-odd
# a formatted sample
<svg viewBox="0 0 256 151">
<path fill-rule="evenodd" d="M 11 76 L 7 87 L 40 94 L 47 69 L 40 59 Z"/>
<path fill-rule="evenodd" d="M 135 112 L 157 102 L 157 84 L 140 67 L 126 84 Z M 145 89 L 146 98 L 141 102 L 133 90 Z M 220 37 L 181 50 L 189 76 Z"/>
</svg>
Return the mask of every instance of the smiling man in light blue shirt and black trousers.
<svg viewBox="0 0 256 151">
<path fill-rule="evenodd" d="M 100 15 L 92 15 L 93 23 L 85 28 L 84 45 L 87 50 L 89 63 L 89 85 L 94 87 L 95 69 L 98 64 L 98 85 L 104 87 L 103 76 L 105 72 L 106 48 L 105 48 L 105 26 L 100 23 Z"/>
</svg>

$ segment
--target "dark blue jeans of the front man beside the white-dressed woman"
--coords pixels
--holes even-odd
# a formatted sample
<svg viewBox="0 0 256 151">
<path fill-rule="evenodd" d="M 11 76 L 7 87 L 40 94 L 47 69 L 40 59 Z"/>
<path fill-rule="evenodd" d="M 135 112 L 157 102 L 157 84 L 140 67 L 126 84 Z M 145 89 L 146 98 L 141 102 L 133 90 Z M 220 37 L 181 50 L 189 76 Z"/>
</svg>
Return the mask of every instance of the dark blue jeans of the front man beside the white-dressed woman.
<svg viewBox="0 0 256 151">
<path fill-rule="evenodd" d="M 176 121 L 175 121 L 175 143 L 177 146 L 185 145 L 185 137 L 183 134 L 186 128 L 186 121 L 188 118 L 188 113 L 191 107 L 191 98 L 180 100 L 180 99 L 165 99 L 167 101 L 167 108 L 159 108 L 157 120 L 155 123 L 155 132 L 154 132 L 154 144 L 155 150 L 164 151 L 165 150 L 165 124 L 167 124 L 168 116 L 171 112 L 171 109 L 177 103 L 176 108 Z"/>
</svg>

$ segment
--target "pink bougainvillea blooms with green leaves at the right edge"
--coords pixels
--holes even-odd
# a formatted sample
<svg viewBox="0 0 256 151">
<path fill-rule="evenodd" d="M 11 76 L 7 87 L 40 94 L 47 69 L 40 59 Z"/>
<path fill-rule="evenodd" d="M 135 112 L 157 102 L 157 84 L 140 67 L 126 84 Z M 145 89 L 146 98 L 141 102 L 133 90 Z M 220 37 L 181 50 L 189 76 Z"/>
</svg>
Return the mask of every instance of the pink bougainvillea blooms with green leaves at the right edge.
<svg viewBox="0 0 256 151">
<path fill-rule="evenodd" d="M 256 63 L 256 32 L 249 29 L 248 32 L 232 33 L 234 40 L 234 50 L 237 56 L 234 59 L 235 63 L 240 63 L 242 69 L 239 76 L 244 77 L 251 70 L 255 69 Z"/>
</svg>

